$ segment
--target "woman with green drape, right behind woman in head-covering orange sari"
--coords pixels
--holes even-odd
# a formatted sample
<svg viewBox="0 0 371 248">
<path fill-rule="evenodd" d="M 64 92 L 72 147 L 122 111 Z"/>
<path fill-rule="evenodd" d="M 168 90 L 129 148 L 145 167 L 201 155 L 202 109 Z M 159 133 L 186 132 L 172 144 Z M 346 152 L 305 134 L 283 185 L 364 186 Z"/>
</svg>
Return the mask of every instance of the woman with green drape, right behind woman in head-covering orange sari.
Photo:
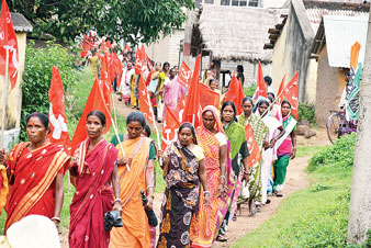
<svg viewBox="0 0 371 248">
<path fill-rule="evenodd" d="M 216 238 L 218 241 L 227 240 L 225 234 L 229 216 L 233 216 L 234 221 L 236 221 L 235 210 L 237 207 L 237 198 L 239 195 L 241 181 L 248 182 L 249 180 L 249 166 L 247 162 L 249 151 L 246 143 L 246 134 L 244 126 L 237 123 L 236 114 L 237 110 L 235 103 L 231 101 L 223 103 L 221 121 L 224 132 L 231 142 L 232 169 L 236 182 L 234 185 L 233 201 L 231 201 L 228 212 Z"/>
</svg>

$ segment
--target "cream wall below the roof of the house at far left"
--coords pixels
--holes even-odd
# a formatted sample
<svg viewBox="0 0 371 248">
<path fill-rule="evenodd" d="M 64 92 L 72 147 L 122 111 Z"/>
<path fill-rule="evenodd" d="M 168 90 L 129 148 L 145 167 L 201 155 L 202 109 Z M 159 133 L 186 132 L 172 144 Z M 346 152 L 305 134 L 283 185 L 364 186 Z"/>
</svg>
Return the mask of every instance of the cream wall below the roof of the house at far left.
<svg viewBox="0 0 371 248">
<path fill-rule="evenodd" d="M 20 70 L 18 74 L 16 86 L 13 90 L 8 91 L 8 102 L 5 109 L 5 133 L 4 137 L 4 147 L 8 147 L 9 143 L 15 142 L 15 137 L 20 133 L 20 123 L 21 123 L 21 108 L 22 108 L 22 91 L 21 91 L 21 81 L 24 70 L 24 57 L 25 57 L 25 47 L 26 47 L 26 33 L 16 33 L 18 48 L 19 48 L 19 64 Z M 5 77 L 0 77 L 0 101 L 2 102 L 2 95 L 4 91 Z M 3 105 L 0 104 L 0 113 L 3 110 Z M 1 123 L 0 123 L 1 125 Z"/>
</svg>

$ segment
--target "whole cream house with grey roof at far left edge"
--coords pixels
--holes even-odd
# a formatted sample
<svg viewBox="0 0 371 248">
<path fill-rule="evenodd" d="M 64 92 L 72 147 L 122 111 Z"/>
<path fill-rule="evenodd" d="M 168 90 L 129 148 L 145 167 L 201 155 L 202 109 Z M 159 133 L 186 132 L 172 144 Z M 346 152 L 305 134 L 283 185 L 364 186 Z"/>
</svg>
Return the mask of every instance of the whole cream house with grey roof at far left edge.
<svg viewBox="0 0 371 248">
<path fill-rule="evenodd" d="M 21 106 L 22 106 L 22 75 L 24 70 L 24 58 L 26 47 L 26 36 L 29 32 L 32 32 L 32 25 L 30 22 L 20 13 L 11 13 L 16 41 L 18 41 L 18 53 L 19 53 L 19 74 L 16 79 L 16 86 L 13 90 L 10 90 L 8 94 L 8 102 L 5 105 L 5 132 L 3 147 L 10 148 L 16 142 L 16 137 L 20 135 L 21 128 Z M 0 76 L 0 92 L 1 98 L 4 91 L 5 77 Z M 0 110 L 3 111 L 3 105 Z"/>
</svg>

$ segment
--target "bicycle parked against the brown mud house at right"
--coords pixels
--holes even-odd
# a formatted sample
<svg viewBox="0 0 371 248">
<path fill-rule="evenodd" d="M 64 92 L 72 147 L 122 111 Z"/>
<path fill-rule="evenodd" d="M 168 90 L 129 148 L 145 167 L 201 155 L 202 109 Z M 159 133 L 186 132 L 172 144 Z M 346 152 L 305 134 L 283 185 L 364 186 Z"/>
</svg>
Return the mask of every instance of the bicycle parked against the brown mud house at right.
<svg viewBox="0 0 371 248">
<path fill-rule="evenodd" d="M 326 123 L 328 139 L 334 144 L 345 134 L 357 132 L 357 122 L 348 122 L 344 112 L 330 110 Z"/>
</svg>

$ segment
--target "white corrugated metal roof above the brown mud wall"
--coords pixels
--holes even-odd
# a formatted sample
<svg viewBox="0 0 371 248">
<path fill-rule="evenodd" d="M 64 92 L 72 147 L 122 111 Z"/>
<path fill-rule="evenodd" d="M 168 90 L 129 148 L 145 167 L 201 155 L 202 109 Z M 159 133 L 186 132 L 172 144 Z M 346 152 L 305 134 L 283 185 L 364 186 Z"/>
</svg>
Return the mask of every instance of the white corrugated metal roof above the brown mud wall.
<svg viewBox="0 0 371 248">
<path fill-rule="evenodd" d="M 349 68 L 350 48 L 358 41 L 361 44 L 358 61 L 364 60 L 368 16 L 325 15 L 324 27 L 330 67 Z"/>
</svg>

